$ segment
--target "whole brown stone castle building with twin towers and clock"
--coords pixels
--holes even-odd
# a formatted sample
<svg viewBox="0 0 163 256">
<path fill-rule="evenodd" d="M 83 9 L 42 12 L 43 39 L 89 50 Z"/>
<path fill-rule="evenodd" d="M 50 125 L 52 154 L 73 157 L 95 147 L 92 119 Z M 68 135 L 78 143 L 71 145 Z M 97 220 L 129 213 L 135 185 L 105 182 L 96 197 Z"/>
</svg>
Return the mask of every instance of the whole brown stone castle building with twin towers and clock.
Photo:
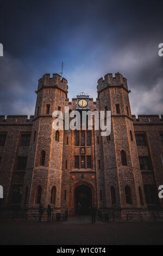
<svg viewBox="0 0 163 256">
<path fill-rule="evenodd" d="M 4 209 L 37 211 L 40 202 L 70 215 L 102 211 L 161 211 L 163 116 L 131 115 L 127 79 L 120 73 L 98 80 L 96 102 L 67 98 L 67 80 L 39 80 L 34 116 L 0 116 L 0 184 Z M 82 104 L 81 100 L 83 100 Z M 80 102 L 79 102 L 80 101 Z M 111 110 L 111 134 L 100 130 L 54 130 L 52 113 Z M 71 120 L 71 118 L 70 118 Z"/>
</svg>

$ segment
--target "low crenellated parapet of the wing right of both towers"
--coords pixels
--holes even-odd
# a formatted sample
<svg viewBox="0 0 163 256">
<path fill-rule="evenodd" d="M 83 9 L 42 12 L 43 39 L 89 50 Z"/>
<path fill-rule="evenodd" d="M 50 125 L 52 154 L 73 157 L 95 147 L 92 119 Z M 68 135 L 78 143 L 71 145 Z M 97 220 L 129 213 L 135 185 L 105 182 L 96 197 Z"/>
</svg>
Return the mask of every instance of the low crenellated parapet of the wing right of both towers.
<svg viewBox="0 0 163 256">
<path fill-rule="evenodd" d="M 135 115 L 132 115 L 134 123 L 163 123 L 163 115 L 161 115 L 161 118 L 159 115 L 138 115 L 138 118 L 136 118 Z"/>
</svg>

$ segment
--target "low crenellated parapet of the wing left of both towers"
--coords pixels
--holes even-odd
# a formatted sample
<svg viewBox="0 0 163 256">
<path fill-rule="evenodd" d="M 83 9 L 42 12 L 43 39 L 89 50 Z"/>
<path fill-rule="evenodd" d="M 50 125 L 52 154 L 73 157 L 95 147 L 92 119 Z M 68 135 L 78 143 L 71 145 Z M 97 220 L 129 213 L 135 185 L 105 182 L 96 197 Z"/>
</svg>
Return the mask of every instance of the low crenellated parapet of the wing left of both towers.
<svg viewBox="0 0 163 256">
<path fill-rule="evenodd" d="M 33 118 L 34 116 L 30 116 L 30 118 L 28 119 L 28 116 L 26 115 L 9 115 L 7 116 L 7 118 L 5 119 L 5 116 L 0 116 L 0 123 L 4 124 L 4 123 L 11 123 L 11 124 L 24 124 L 24 123 L 32 123 L 33 122 Z"/>
</svg>

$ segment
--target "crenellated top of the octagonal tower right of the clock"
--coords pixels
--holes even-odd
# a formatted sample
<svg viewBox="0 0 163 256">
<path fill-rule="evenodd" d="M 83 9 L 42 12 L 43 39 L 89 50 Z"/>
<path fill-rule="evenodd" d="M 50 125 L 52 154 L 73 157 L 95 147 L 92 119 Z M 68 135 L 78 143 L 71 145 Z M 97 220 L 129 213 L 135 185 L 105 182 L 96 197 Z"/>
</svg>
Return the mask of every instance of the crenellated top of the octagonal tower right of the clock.
<svg viewBox="0 0 163 256">
<path fill-rule="evenodd" d="M 112 74 L 106 74 L 103 78 L 98 79 L 97 92 L 104 90 L 108 86 L 123 86 L 128 90 L 127 79 L 120 73 L 116 73 L 115 76 Z"/>
</svg>

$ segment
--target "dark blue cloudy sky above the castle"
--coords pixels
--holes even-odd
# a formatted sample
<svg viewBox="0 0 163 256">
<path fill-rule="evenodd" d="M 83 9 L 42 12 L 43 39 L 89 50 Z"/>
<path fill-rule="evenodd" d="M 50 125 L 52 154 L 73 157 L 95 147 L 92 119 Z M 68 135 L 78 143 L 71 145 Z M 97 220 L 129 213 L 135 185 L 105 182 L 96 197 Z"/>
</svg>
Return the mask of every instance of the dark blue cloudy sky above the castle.
<svg viewBox="0 0 163 256">
<path fill-rule="evenodd" d="M 68 97 L 120 72 L 132 114 L 163 114 L 162 1 L 0 1 L 0 115 L 33 115 L 37 80 L 64 62 Z"/>
</svg>

